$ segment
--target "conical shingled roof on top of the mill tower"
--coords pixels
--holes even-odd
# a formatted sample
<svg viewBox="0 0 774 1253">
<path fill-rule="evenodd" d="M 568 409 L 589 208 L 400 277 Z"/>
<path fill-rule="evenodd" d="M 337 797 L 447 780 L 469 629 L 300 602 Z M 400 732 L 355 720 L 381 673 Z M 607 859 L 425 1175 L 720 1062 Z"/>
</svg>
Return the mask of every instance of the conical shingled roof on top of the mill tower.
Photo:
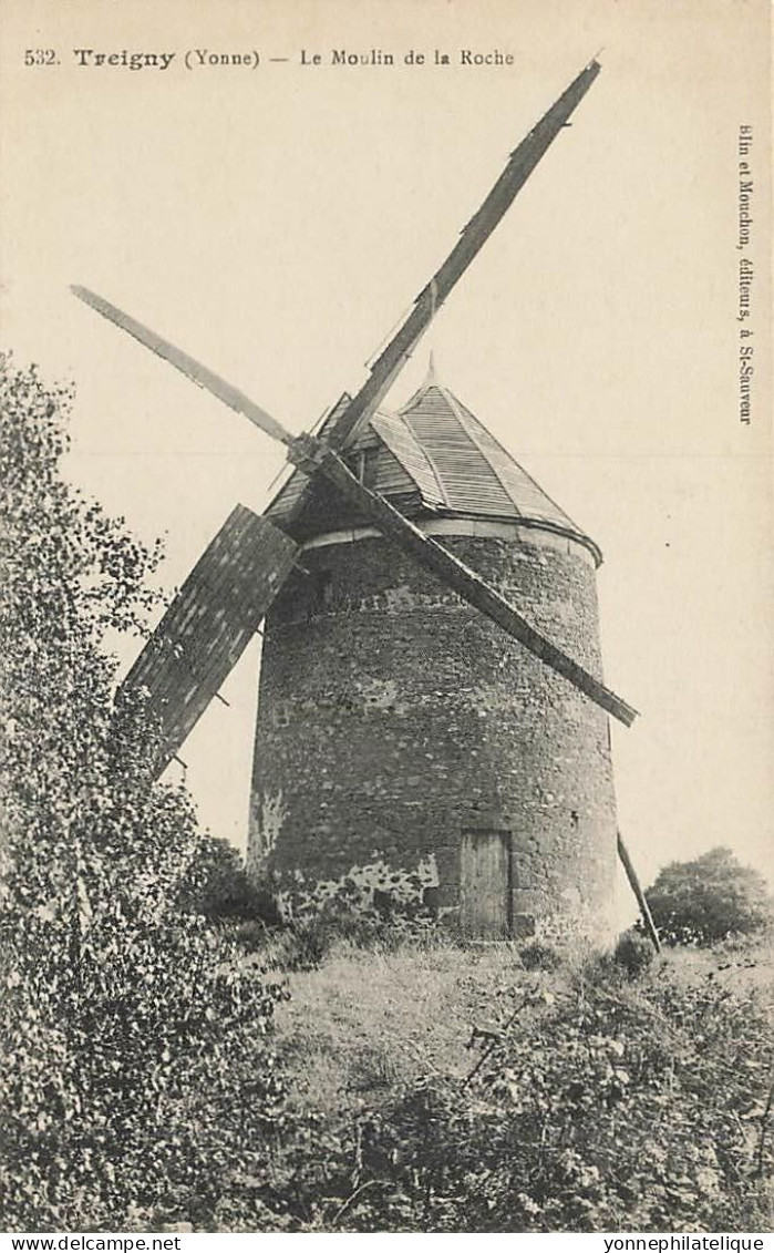
<svg viewBox="0 0 774 1253">
<path fill-rule="evenodd" d="M 321 430 L 324 437 L 326 426 Z M 471 517 L 517 521 L 567 535 L 601 560 L 597 545 L 524 470 L 452 392 L 431 372 L 396 413 L 379 410 L 346 452 L 363 471 L 368 487 L 392 500 L 407 516 Z M 272 501 L 267 514 L 278 525 L 297 496 L 298 471 Z M 332 499 L 326 486 L 301 526 L 298 538 L 323 529 L 367 524 Z M 338 516 L 337 516 L 338 515 Z"/>
</svg>

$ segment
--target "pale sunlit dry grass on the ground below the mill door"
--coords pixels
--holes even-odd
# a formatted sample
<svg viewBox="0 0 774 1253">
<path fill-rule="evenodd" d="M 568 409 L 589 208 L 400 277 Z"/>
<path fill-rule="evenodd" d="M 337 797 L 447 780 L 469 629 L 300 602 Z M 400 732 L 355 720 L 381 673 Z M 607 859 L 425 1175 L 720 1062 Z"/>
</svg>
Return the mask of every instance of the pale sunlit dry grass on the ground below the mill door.
<svg viewBox="0 0 774 1253">
<path fill-rule="evenodd" d="M 511 944 L 438 940 L 386 950 L 339 941 L 317 969 L 288 974 L 291 1000 L 277 1009 L 294 1100 L 326 1114 L 379 1104 L 423 1075 L 462 1081 L 477 1058 L 468 1046 L 473 1027 L 496 1029 L 530 989 L 561 996 L 594 959 L 579 954 L 556 970 L 526 965 Z M 709 977 L 736 992 L 756 989 L 774 1006 L 770 938 L 666 950 L 642 977 L 658 980 L 665 967 L 686 986 Z"/>
</svg>

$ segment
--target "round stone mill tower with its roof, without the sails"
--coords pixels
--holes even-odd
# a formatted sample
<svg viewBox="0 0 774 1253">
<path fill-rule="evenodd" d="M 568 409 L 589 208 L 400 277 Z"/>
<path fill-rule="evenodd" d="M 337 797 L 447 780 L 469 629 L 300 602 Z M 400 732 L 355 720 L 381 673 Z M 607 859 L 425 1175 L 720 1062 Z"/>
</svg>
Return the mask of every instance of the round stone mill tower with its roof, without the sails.
<svg viewBox="0 0 774 1253">
<path fill-rule="evenodd" d="M 324 427 L 321 435 L 324 437 Z M 432 373 L 347 450 L 361 481 L 600 670 L 596 544 Z M 378 855 L 432 862 L 476 935 L 610 922 L 616 822 L 607 718 L 393 548 L 327 484 L 264 624 L 252 856 L 311 877 Z"/>
</svg>

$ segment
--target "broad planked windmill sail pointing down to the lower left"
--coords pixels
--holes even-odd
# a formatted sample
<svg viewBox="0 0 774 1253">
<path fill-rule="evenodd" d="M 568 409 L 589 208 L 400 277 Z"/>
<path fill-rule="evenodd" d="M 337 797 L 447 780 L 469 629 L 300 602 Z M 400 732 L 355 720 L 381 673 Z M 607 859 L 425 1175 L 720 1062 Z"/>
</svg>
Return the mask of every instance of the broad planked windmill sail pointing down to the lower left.
<svg viewBox="0 0 774 1253">
<path fill-rule="evenodd" d="M 296 553 L 293 540 L 237 505 L 167 609 L 118 695 L 147 689 L 162 724 L 159 774 L 242 657 Z"/>
</svg>

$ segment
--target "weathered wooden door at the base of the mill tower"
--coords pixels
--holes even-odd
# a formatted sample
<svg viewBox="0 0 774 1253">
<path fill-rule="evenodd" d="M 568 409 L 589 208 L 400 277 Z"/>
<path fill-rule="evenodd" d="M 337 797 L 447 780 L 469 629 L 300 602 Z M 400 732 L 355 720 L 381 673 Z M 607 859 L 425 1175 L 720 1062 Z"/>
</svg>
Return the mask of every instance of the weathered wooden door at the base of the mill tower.
<svg viewBox="0 0 774 1253">
<path fill-rule="evenodd" d="M 466 936 L 502 940 L 511 933 L 510 832 L 472 828 L 460 850 L 460 927 Z"/>
</svg>

